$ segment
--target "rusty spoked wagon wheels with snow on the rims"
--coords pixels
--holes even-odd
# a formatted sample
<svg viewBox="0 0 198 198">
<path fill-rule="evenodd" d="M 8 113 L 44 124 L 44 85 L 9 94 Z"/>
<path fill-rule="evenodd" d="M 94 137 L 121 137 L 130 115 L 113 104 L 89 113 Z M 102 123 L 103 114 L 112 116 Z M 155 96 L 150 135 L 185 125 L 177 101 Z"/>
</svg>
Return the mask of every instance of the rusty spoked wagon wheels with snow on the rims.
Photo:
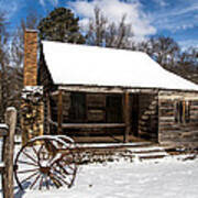
<svg viewBox="0 0 198 198">
<path fill-rule="evenodd" d="M 22 146 L 14 167 L 15 180 L 22 190 L 70 187 L 77 172 L 69 145 L 51 135 L 32 139 Z"/>
</svg>

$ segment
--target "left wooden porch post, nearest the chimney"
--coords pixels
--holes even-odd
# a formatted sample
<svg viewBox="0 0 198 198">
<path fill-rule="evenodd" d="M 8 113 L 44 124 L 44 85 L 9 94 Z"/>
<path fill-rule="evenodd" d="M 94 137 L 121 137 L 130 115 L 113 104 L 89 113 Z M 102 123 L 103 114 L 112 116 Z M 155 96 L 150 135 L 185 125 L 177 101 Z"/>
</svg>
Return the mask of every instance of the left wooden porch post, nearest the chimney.
<svg viewBox="0 0 198 198">
<path fill-rule="evenodd" d="M 57 133 L 62 133 L 62 123 L 63 123 L 63 92 L 62 90 L 58 90 L 58 103 L 57 103 Z"/>
</svg>

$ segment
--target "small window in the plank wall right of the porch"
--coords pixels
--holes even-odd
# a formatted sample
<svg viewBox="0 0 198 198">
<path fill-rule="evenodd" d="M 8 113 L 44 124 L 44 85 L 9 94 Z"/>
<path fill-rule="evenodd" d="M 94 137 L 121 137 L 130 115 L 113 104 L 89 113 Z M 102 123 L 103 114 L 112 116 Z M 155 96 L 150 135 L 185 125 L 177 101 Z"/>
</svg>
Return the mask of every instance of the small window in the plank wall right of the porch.
<svg viewBox="0 0 198 198">
<path fill-rule="evenodd" d="M 175 122 L 188 123 L 190 120 L 189 101 L 179 100 L 175 102 Z"/>
</svg>

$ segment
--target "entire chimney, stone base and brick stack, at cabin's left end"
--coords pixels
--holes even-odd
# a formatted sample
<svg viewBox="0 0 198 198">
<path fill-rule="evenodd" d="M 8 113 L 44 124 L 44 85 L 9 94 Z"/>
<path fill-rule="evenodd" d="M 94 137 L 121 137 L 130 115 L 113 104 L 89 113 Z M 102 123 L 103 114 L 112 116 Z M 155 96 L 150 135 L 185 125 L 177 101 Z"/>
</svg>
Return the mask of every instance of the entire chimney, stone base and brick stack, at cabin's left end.
<svg viewBox="0 0 198 198">
<path fill-rule="evenodd" d="M 23 90 L 21 98 L 22 144 L 44 133 L 43 87 L 37 86 L 37 31 L 24 32 Z"/>
</svg>

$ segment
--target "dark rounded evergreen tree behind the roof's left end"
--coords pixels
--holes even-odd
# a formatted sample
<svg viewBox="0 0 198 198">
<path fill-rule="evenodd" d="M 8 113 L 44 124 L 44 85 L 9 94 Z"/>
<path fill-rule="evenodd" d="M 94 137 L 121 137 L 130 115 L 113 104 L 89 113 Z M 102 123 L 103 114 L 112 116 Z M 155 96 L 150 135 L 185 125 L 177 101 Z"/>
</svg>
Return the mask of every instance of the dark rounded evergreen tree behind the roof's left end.
<svg viewBox="0 0 198 198">
<path fill-rule="evenodd" d="M 84 44 L 85 38 L 79 32 L 78 18 L 66 8 L 56 8 L 42 19 L 37 29 L 41 40 Z"/>
</svg>

